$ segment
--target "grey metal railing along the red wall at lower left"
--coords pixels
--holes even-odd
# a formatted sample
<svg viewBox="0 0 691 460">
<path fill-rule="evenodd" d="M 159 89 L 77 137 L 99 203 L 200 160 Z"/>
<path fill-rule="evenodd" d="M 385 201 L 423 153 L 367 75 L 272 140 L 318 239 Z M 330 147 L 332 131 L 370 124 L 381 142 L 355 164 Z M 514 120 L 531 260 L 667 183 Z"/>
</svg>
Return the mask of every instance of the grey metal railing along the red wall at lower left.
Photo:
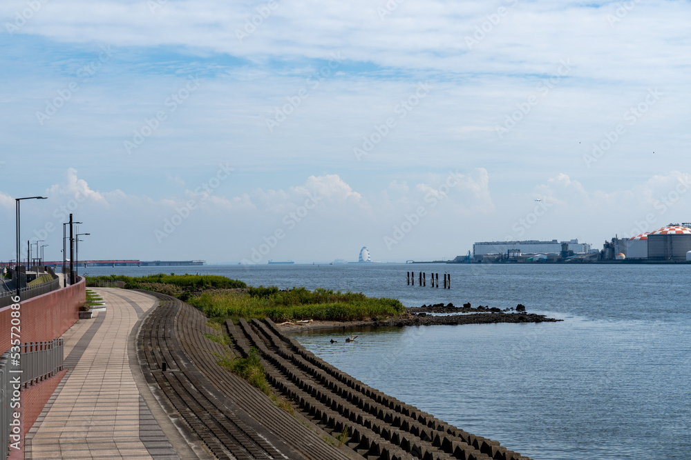
<svg viewBox="0 0 691 460">
<path fill-rule="evenodd" d="M 21 346 L 19 369 L 21 388 L 39 383 L 55 376 L 62 370 L 64 363 L 64 339 L 48 342 L 24 343 Z M 10 423 L 13 420 L 11 399 L 15 392 L 15 383 L 10 380 L 10 350 L 0 356 L 0 460 L 8 458 L 10 446 Z M 15 364 L 16 366 L 16 364 Z M 15 370 L 16 372 L 16 370 Z"/>
</svg>

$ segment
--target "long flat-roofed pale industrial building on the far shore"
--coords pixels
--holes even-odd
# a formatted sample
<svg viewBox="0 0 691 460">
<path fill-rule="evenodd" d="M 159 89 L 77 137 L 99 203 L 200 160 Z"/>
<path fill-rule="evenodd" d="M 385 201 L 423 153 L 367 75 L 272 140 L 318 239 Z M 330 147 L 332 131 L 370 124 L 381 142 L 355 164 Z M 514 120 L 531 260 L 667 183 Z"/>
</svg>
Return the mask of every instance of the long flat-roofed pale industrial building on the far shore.
<svg viewBox="0 0 691 460">
<path fill-rule="evenodd" d="M 561 254 L 564 251 L 562 245 L 567 245 L 567 251 L 573 254 L 587 254 L 591 250 L 589 243 L 578 243 L 578 239 L 570 241 L 482 241 L 473 244 L 473 257 L 475 260 L 484 259 L 487 256 L 509 255 L 518 257 L 524 254 Z"/>
</svg>

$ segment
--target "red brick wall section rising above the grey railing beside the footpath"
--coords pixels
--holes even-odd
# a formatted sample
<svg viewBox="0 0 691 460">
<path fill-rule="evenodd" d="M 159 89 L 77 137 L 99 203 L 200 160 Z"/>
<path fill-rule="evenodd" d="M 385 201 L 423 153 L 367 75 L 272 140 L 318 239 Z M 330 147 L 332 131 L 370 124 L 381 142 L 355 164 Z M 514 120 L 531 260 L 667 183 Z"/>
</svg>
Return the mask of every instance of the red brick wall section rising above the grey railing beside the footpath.
<svg viewBox="0 0 691 460">
<path fill-rule="evenodd" d="M 79 303 L 84 300 L 86 283 L 82 278 L 74 286 L 21 302 L 19 334 L 22 343 L 50 341 L 60 337 L 79 319 Z M 11 306 L 0 308 L 0 353 L 11 347 L 11 313 Z"/>
</svg>

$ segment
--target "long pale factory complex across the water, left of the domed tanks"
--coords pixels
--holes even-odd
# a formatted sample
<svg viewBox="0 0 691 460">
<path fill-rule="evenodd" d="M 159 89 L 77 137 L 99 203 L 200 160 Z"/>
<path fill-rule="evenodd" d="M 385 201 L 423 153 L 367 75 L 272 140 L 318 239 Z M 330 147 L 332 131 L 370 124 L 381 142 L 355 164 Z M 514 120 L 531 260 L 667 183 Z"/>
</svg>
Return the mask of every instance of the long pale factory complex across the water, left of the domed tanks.
<svg viewBox="0 0 691 460">
<path fill-rule="evenodd" d="M 589 243 L 578 243 L 578 239 L 569 241 L 482 241 L 473 244 L 473 261 L 559 261 L 573 257 L 593 257 Z M 596 257 L 596 256 L 594 256 Z"/>
</svg>

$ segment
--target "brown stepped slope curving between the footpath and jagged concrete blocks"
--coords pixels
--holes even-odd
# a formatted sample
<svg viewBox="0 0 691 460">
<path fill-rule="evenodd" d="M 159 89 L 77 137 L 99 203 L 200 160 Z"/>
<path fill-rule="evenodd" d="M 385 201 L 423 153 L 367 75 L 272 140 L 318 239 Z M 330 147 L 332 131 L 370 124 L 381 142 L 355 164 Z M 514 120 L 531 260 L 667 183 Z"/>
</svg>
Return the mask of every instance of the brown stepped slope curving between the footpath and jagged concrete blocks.
<svg viewBox="0 0 691 460">
<path fill-rule="evenodd" d="M 231 350 L 204 315 L 175 297 L 160 300 L 142 321 L 136 341 L 140 367 L 178 430 L 209 456 L 231 459 L 347 460 L 321 430 L 277 408 L 271 399 L 218 365 Z M 181 429 L 184 425 L 184 429 Z M 189 442 L 189 439 L 188 439 Z M 354 452 L 351 452 L 354 454 Z"/>
</svg>

